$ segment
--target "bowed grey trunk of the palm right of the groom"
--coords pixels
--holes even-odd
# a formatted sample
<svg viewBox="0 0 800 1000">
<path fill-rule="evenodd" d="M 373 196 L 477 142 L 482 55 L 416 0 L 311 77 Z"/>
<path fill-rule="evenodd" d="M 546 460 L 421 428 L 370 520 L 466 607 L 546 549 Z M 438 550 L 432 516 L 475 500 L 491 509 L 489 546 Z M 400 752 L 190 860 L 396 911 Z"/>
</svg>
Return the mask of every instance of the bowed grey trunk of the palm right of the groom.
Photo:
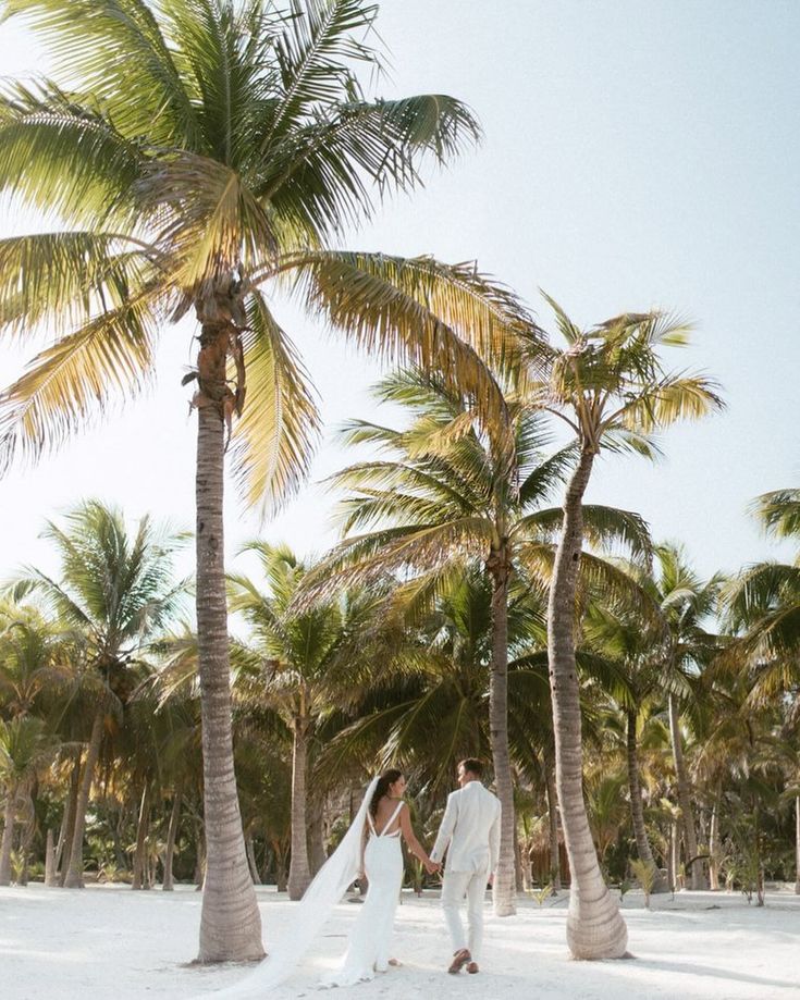
<svg viewBox="0 0 800 1000">
<path fill-rule="evenodd" d="M 584 448 L 564 499 L 562 535 L 547 602 L 556 788 L 571 877 L 567 943 L 576 959 L 618 959 L 628 930 L 598 863 L 583 801 L 580 696 L 575 662 L 575 595 L 583 543 L 581 502 L 593 454 Z"/>
</svg>

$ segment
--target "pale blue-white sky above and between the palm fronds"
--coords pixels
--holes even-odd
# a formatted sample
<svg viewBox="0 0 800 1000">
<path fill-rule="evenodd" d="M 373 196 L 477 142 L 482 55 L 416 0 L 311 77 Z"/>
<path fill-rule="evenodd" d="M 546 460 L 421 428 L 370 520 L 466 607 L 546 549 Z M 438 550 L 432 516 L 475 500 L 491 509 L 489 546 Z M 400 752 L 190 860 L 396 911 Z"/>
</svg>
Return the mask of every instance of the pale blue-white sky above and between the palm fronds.
<svg viewBox="0 0 800 1000">
<path fill-rule="evenodd" d="M 603 459 L 588 499 L 639 511 L 705 573 L 785 556 L 746 511 L 759 493 L 798 485 L 800 469 L 800 4 L 383 0 L 378 27 L 393 64 L 378 92 L 452 94 L 485 138 L 347 245 L 477 258 L 549 329 L 540 287 L 584 324 L 653 306 L 691 317 L 676 363 L 714 374 L 727 411 L 670 432 L 655 466 Z M 0 25 L 0 46 L 5 75 L 44 64 L 13 24 Z M 0 235 L 29 224 L 7 214 Z M 330 437 L 376 416 L 378 370 L 307 319 L 283 320 L 322 398 L 317 480 L 353 459 Z M 193 526 L 195 422 L 180 385 L 192 332 L 164 331 L 149 397 L 0 481 L 1 576 L 20 563 L 51 569 L 42 521 L 82 497 Z M 19 365 L 3 348 L 2 384 Z M 311 486 L 262 533 L 320 552 L 335 540 L 331 505 Z M 259 532 L 232 491 L 226 524 L 230 556 Z"/>
</svg>

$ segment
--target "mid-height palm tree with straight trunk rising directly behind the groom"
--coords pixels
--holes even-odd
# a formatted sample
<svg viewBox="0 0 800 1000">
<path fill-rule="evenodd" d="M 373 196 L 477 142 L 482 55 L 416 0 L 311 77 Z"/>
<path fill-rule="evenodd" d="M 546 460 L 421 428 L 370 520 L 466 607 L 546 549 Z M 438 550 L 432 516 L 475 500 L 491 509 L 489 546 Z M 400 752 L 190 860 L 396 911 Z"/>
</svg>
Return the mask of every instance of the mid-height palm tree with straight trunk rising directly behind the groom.
<svg viewBox="0 0 800 1000">
<path fill-rule="evenodd" d="M 464 394 L 419 371 L 390 376 L 379 398 L 399 404 L 411 415 L 405 430 L 356 421 L 349 443 L 371 443 L 386 460 L 359 462 L 332 477 L 331 483 L 354 493 L 343 502 L 343 530 L 373 529 L 346 539 L 318 567 L 315 577 L 362 581 L 376 573 L 413 568 L 422 579 L 413 584 L 434 594 L 442 580 L 478 561 L 491 581 L 491 656 L 489 717 L 497 795 L 503 808 L 501 860 L 494 905 L 500 915 L 515 912 L 515 813 L 508 750 L 508 594 L 515 564 L 541 565 L 550 558 L 547 541 L 558 510 L 546 499 L 570 467 L 575 449 L 544 457 L 541 411 L 507 393 L 513 429 L 510 456 L 505 441 L 484 431 Z M 593 508 L 587 518 L 598 538 L 621 536 L 636 550 L 647 536 L 635 516 Z"/>
</svg>

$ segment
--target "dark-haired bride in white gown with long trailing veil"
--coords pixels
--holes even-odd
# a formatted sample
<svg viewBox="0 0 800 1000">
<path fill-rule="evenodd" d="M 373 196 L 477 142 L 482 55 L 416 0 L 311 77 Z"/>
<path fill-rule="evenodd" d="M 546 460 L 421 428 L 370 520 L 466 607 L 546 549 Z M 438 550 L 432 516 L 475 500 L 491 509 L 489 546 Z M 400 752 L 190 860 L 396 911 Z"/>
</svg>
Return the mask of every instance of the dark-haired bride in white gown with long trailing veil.
<svg viewBox="0 0 800 1000">
<path fill-rule="evenodd" d="M 373 778 L 339 848 L 320 868 L 295 910 L 284 943 L 236 986 L 221 990 L 220 998 L 263 997 L 287 978 L 315 937 L 356 878 L 367 876 L 367 899 L 347 939 L 347 950 L 336 968 L 322 978 L 324 986 L 352 986 L 385 972 L 390 959 L 394 914 L 403 884 L 401 837 L 429 873 L 439 868 L 430 860 L 411 828 L 408 805 L 403 801 L 406 779 L 396 769 Z"/>
</svg>

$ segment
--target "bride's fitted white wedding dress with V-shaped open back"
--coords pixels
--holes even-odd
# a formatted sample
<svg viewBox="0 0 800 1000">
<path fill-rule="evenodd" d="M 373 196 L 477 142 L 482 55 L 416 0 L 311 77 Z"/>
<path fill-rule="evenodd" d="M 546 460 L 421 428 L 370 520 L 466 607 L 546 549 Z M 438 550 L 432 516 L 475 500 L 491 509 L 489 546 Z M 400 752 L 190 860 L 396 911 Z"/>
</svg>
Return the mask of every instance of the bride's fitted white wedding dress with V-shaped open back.
<svg viewBox="0 0 800 1000">
<path fill-rule="evenodd" d="M 350 930 L 342 964 L 322 979 L 325 986 L 354 986 L 389 967 L 394 914 L 403 886 L 403 850 L 399 829 L 391 834 L 386 830 L 402 808 L 403 803 L 397 803 L 380 834 L 376 830 L 372 815 L 367 813 L 370 830 L 364 852 L 364 867 L 369 880 L 367 899 Z"/>
</svg>

